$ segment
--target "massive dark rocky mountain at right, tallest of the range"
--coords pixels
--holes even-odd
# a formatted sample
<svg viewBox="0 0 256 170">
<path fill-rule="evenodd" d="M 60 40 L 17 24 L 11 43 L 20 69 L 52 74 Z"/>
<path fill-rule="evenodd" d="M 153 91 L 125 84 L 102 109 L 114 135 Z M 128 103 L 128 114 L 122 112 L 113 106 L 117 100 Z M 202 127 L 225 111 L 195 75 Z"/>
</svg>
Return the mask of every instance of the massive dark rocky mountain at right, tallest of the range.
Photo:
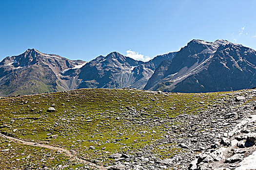
<svg viewBox="0 0 256 170">
<path fill-rule="evenodd" d="M 256 51 L 225 40 L 192 40 L 161 63 L 145 89 L 174 92 L 230 91 L 256 86 Z"/>
</svg>

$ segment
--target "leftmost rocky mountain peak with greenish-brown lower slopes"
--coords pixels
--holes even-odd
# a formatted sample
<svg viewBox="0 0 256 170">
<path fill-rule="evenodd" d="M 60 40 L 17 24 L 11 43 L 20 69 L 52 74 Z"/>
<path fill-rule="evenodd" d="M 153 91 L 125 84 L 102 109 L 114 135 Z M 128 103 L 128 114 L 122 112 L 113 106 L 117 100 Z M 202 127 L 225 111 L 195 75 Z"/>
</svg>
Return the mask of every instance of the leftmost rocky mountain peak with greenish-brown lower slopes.
<svg viewBox="0 0 256 170">
<path fill-rule="evenodd" d="M 0 62 L 0 93 L 35 94 L 74 89 L 77 85 L 74 77 L 85 64 L 82 60 L 69 60 L 28 49 Z"/>
</svg>

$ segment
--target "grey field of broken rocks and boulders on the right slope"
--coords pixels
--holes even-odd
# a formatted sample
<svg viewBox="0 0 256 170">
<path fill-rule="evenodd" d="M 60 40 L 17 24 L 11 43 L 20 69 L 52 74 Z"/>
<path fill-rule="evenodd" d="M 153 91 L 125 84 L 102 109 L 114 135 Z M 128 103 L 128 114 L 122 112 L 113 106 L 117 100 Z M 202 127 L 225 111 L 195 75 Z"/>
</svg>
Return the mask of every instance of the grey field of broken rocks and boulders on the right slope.
<svg viewBox="0 0 256 170">
<path fill-rule="evenodd" d="M 165 151 L 180 148 L 182 152 L 159 160 L 150 154 L 151 148 L 144 148 L 132 158 L 126 158 L 126 162 L 117 162 L 112 169 L 255 170 L 256 162 L 247 165 L 256 160 L 255 156 L 242 160 L 256 151 L 256 90 L 227 95 L 233 98 L 221 99 L 200 114 L 177 116 L 179 125 L 169 127 L 168 135 L 157 141 Z M 177 131 L 181 133 L 177 135 Z M 166 147 L 167 143 L 175 145 Z"/>
</svg>

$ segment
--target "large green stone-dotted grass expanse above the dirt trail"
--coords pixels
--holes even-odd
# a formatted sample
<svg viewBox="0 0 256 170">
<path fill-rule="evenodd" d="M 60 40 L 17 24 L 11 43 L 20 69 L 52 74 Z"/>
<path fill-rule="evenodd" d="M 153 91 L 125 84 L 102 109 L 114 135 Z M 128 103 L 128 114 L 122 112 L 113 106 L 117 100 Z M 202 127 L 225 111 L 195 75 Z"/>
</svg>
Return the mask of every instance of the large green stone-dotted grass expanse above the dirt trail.
<svg viewBox="0 0 256 170">
<path fill-rule="evenodd" d="M 145 146 L 153 146 L 165 135 L 166 127 L 178 123 L 170 118 L 179 114 L 197 114 L 224 94 L 165 95 L 132 89 L 79 89 L 2 98 L 0 131 L 76 151 L 78 156 L 90 161 L 110 165 L 114 161 L 108 158 L 109 154 L 135 154 Z M 56 111 L 46 112 L 49 107 Z M 128 110 L 133 112 L 129 114 Z M 49 138 L 47 134 L 56 136 Z M 167 158 L 181 152 L 180 149 L 166 150 L 166 147 L 155 146 L 152 153 Z"/>
</svg>

